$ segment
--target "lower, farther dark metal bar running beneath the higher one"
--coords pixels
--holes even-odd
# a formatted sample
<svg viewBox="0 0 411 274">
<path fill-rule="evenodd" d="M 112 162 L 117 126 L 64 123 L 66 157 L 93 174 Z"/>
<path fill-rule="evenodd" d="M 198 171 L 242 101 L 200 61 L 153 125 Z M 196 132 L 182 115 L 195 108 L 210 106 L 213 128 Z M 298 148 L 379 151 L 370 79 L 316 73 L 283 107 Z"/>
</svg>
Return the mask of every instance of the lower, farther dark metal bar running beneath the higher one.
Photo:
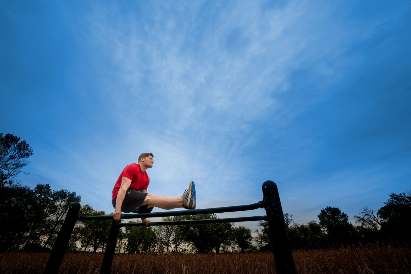
<svg viewBox="0 0 411 274">
<path fill-rule="evenodd" d="M 205 219 L 205 220 L 187 220 L 187 221 L 168 221 L 168 222 L 151 222 L 149 226 L 174 226 L 187 224 L 202 224 L 202 223 L 232 223 L 232 222 L 247 222 L 247 221 L 267 221 L 267 216 L 251 216 L 225 219 Z M 118 223 L 118 226 L 145 226 L 145 223 Z M 107 251 L 106 251 L 107 252 Z"/>
</svg>

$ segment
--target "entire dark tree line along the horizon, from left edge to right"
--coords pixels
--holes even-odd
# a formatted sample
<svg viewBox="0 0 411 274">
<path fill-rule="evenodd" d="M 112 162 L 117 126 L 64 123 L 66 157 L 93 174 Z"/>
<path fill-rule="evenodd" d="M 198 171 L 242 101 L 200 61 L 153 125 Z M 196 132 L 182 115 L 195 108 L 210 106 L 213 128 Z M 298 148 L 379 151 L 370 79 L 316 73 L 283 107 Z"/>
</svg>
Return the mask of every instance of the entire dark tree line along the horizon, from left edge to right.
<svg viewBox="0 0 411 274">
<path fill-rule="evenodd" d="M 14 178 L 24 173 L 33 151 L 28 143 L 12 134 L 0 134 L 0 252 L 47 251 L 55 242 L 69 205 L 81 196 L 66 189 L 52 190 L 48 184 L 34 189 Z M 26 173 L 27 174 L 27 173 Z M 91 205 L 83 205 L 80 214 L 107 215 Z M 410 242 L 411 192 L 391 193 L 378 210 L 363 207 L 354 216 L 356 225 L 338 207 L 326 207 L 318 214 L 319 222 L 284 220 L 293 249 L 319 249 L 340 244 L 397 241 Z M 215 214 L 164 217 L 162 221 L 216 219 Z M 106 248 L 110 220 L 81 220 L 76 223 L 69 251 L 100 252 Z M 122 253 L 228 253 L 269 251 L 268 223 L 261 221 L 252 230 L 234 223 L 179 226 L 141 226 L 120 229 L 116 251 Z"/>
</svg>

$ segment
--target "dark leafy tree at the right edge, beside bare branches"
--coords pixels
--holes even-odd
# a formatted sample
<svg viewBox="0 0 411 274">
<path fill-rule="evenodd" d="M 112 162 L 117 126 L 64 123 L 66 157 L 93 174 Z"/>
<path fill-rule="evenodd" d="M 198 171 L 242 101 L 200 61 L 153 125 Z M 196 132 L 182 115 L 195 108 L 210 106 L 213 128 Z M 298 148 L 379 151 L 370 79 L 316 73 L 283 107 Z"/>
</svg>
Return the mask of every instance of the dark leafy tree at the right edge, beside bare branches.
<svg viewBox="0 0 411 274">
<path fill-rule="evenodd" d="M 382 220 L 381 232 L 385 237 L 395 237 L 400 241 L 411 240 L 411 191 L 391 193 L 378 214 Z"/>
</svg>

